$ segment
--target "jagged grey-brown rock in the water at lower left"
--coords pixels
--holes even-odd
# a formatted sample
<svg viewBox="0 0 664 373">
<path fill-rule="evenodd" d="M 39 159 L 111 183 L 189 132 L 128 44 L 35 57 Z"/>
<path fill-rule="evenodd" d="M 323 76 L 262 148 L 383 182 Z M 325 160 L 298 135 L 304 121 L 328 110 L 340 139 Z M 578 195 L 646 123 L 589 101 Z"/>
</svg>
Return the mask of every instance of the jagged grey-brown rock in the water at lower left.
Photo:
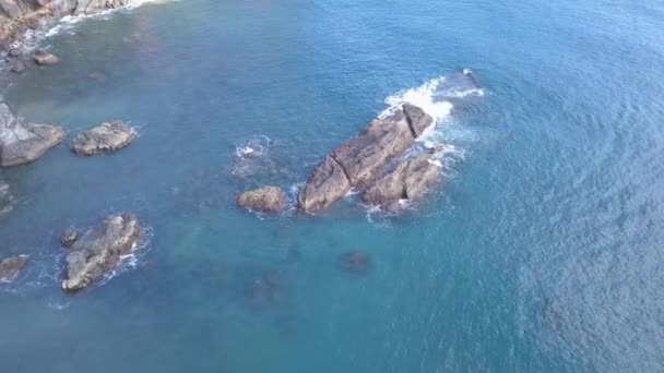
<svg viewBox="0 0 664 373">
<path fill-rule="evenodd" d="M 134 251 L 142 237 L 143 228 L 133 214 L 109 216 L 71 246 L 62 289 L 83 289 L 117 269 L 121 256 Z"/>
</svg>

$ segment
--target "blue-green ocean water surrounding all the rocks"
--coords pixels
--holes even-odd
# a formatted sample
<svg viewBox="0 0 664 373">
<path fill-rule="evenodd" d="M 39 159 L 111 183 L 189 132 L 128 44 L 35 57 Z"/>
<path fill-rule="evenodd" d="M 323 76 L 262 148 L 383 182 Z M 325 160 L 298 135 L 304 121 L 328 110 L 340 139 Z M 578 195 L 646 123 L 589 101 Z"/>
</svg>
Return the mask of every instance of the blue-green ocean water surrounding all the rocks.
<svg viewBox="0 0 664 373">
<path fill-rule="evenodd" d="M 663 19 L 641 0 L 182 0 L 66 20 L 35 39 L 61 63 L 5 74 L 3 99 L 68 141 L 114 119 L 140 137 L 0 171 L 19 201 L 0 256 L 32 258 L 0 285 L 0 372 L 663 371 Z M 264 184 L 294 198 L 402 101 L 438 119 L 418 146 L 446 149 L 407 214 L 235 206 Z M 123 210 L 145 246 L 62 293 L 60 231 Z M 336 267 L 352 250 L 364 276 Z"/>
</svg>

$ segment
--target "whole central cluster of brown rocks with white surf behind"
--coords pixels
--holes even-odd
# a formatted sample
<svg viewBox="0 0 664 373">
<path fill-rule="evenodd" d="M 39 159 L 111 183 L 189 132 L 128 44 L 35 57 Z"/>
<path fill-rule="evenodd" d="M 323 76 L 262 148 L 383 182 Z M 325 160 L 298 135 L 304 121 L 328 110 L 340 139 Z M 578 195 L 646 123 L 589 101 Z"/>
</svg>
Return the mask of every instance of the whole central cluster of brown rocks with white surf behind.
<svg viewBox="0 0 664 373">
<path fill-rule="evenodd" d="M 309 213 L 327 208 L 351 189 L 366 192 L 366 202 L 390 210 L 399 209 L 400 200 L 418 200 L 438 180 L 438 167 L 428 155 L 395 168 L 392 164 L 432 124 L 429 115 L 410 104 L 374 120 L 320 163 L 298 195 L 299 208 Z"/>
</svg>

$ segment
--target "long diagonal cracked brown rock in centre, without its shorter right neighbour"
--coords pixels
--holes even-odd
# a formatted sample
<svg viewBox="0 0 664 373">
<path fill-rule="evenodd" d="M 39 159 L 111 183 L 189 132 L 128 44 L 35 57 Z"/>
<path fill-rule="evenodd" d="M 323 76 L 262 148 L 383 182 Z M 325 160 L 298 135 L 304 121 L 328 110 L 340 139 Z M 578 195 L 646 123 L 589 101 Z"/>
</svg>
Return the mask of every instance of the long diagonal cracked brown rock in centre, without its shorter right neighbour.
<svg viewBox="0 0 664 373">
<path fill-rule="evenodd" d="M 366 191 L 386 172 L 386 165 L 403 155 L 432 123 L 429 115 L 410 104 L 374 120 L 359 136 L 334 149 L 317 167 L 298 195 L 300 209 L 325 208 L 351 188 Z"/>
</svg>

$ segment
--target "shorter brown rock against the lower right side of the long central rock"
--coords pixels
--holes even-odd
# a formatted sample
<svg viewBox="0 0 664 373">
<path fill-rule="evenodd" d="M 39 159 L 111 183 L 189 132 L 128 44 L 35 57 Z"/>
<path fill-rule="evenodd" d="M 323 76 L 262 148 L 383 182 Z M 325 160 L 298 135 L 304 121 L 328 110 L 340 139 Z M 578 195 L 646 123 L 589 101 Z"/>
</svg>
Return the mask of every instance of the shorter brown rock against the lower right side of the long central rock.
<svg viewBox="0 0 664 373">
<path fill-rule="evenodd" d="M 379 179 L 364 195 L 370 204 L 388 210 L 400 208 L 400 200 L 417 201 L 436 184 L 440 170 L 426 154 L 400 164 Z"/>
</svg>

